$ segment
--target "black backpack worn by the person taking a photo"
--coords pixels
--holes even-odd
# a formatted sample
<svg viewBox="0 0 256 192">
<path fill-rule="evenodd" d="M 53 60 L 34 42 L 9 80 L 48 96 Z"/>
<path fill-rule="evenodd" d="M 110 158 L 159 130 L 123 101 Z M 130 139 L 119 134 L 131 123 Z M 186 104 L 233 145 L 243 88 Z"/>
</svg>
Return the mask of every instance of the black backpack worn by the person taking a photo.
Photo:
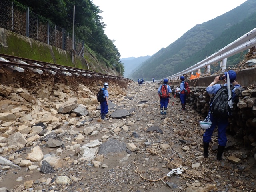
<svg viewBox="0 0 256 192">
<path fill-rule="evenodd" d="M 220 85 L 221 88 L 215 94 L 214 97 L 210 99 L 210 111 L 211 115 L 215 118 L 228 118 L 232 114 L 232 108 L 228 105 L 228 88 L 227 86 Z M 234 86 L 230 87 L 231 89 L 231 98 L 234 89 Z"/>
</svg>

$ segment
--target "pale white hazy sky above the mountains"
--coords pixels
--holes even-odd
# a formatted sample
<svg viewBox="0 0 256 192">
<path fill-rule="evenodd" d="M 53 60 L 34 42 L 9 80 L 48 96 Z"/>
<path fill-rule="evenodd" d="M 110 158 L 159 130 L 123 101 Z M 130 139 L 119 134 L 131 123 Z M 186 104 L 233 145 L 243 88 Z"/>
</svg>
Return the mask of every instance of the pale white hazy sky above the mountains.
<svg viewBox="0 0 256 192">
<path fill-rule="evenodd" d="M 246 0 L 92 0 L 121 58 L 152 55 Z"/>
</svg>

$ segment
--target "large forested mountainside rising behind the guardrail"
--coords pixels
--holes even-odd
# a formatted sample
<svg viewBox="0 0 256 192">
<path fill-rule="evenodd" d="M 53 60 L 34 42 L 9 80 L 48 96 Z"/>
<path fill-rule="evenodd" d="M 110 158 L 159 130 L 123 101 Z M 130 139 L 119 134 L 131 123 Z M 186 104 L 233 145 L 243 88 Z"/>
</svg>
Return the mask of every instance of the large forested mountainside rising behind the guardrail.
<svg viewBox="0 0 256 192">
<path fill-rule="evenodd" d="M 240 6 L 208 22 L 188 30 L 178 40 L 162 48 L 136 70 L 132 78 L 152 76 L 161 79 L 192 66 L 256 27 L 256 1 Z M 228 66 L 237 64 L 238 56 L 228 59 Z"/>
</svg>

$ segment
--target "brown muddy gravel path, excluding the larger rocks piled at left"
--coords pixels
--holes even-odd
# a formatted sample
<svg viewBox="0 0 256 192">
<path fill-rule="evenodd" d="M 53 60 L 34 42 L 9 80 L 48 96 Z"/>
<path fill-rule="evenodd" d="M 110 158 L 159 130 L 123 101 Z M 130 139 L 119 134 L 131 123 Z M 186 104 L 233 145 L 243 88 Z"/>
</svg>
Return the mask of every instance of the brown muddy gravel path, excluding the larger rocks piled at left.
<svg viewBox="0 0 256 192">
<path fill-rule="evenodd" d="M 160 100 L 157 94 L 157 84 L 143 84 L 138 86 L 132 83 L 127 89 L 127 96 L 133 97 L 117 99 L 110 96 L 118 108 L 135 108 L 131 116 L 122 119 L 112 119 L 99 122 L 94 118 L 90 125 L 98 126 L 97 136 L 85 136 L 83 144 L 90 140 L 104 140 L 102 136 L 118 140 L 122 144 L 134 143 L 137 150 L 129 154 L 126 151 L 110 152 L 103 154 L 107 168 L 94 168 L 92 162 L 81 162 L 74 152 L 63 148 L 63 152 L 58 154 L 61 159 L 70 158 L 77 160 L 67 163 L 64 168 L 58 168 L 56 173 L 42 174 L 28 170 L 28 168 L 1 170 L 2 181 L 0 188 L 6 187 L 9 190 L 17 188 L 27 180 L 33 180 L 34 191 L 68 191 L 68 192 L 181 192 L 181 191 L 243 191 L 253 192 L 255 187 L 256 163 L 253 157 L 246 156 L 248 149 L 243 148 L 242 140 L 234 140 L 228 135 L 228 142 L 234 142 L 229 150 L 224 152 L 224 159 L 216 161 L 216 152 L 210 151 L 210 157 L 202 158 L 202 134 L 198 120 L 203 117 L 197 112 L 190 110 L 187 106 L 186 112 L 179 111 L 180 100 L 175 99 L 172 106 L 173 97 L 170 99 L 168 114 L 160 115 Z M 147 101 L 144 106 L 138 106 L 141 101 Z M 111 114 L 112 110 L 110 110 Z M 112 130 L 114 124 L 124 122 L 119 132 L 107 132 Z M 159 126 L 163 134 L 156 131 L 148 132 L 151 126 Z M 75 128 L 82 132 L 84 127 Z M 214 132 L 212 143 L 218 144 L 216 132 Z M 75 136 L 70 136 L 71 140 L 64 143 L 68 146 L 75 141 Z M 146 145 L 145 145 L 145 142 Z M 183 143 L 183 144 L 182 144 Z M 168 146 L 169 145 L 169 146 Z M 56 149 L 47 148 L 40 144 L 44 154 L 55 153 Z M 20 154 L 23 158 L 30 151 Z M 240 164 L 228 162 L 228 156 L 239 157 Z M 6 156 L 8 157 L 8 156 Z M 170 161 L 168 163 L 168 161 Z M 192 169 L 192 164 L 200 163 L 199 168 Z M 172 168 L 181 167 L 184 169 L 180 175 L 166 177 Z M 23 176 L 22 182 L 16 182 L 16 178 Z M 58 176 L 67 176 L 72 179 L 68 185 L 57 185 L 54 181 Z M 50 178 L 50 182 L 47 179 Z M 191 186 L 193 185 L 193 186 Z M 31 190 L 31 191 L 33 191 Z M 24 190 L 29 191 L 29 190 Z"/>
</svg>

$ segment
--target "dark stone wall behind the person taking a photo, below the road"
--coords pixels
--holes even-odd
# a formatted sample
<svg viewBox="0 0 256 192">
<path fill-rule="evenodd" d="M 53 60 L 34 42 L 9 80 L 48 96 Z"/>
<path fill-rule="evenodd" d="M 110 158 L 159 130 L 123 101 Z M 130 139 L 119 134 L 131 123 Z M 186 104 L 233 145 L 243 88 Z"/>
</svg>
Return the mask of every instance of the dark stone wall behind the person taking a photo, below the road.
<svg viewBox="0 0 256 192">
<path fill-rule="evenodd" d="M 209 83 L 210 84 L 210 83 Z M 233 114 L 229 118 L 227 131 L 234 138 L 244 140 L 246 146 L 256 150 L 256 88 L 239 88 L 235 91 L 237 99 L 233 105 Z M 186 98 L 186 105 L 207 116 L 210 95 L 206 87 L 191 87 L 191 94 Z"/>
</svg>

